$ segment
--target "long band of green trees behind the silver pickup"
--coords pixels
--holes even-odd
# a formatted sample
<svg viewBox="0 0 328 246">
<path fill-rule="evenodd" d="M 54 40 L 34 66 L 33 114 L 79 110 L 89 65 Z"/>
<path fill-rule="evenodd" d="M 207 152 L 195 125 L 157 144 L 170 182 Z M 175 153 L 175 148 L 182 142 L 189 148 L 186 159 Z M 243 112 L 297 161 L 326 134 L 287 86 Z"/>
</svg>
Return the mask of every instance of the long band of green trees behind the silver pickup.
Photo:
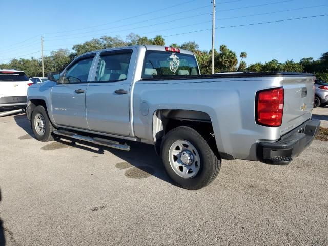
<svg viewBox="0 0 328 246">
<path fill-rule="evenodd" d="M 107 49 L 114 47 L 130 45 L 165 45 L 165 39 L 161 35 L 154 38 L 139 36 L 130 33 L 123 40 L 119 36 L 102 36 L 93 38 L 82 44 L 76 44 L 72 47 L 73 52 L 68 49 L 59 49 L 52 51 L 49 56 L 44 57 L 45 74 L 48 72 L 61 72 L 76 57 L 86 52 Z M 185 42 L 181 45 L 173 43 L 171 47 L 186 49 L 194 52 L 200 71 L 202 74 L 211 74 L 212 72 L 212 51 L 201 51 L 199 45 L 194 41 Z M 221 45 L 219 51 L 214 50 L 215 73 L 224 71 L 248 71 L 248 72 L 309 72 L 314 73 L 318 79 L 328 80 L 328 52 L 323 53 L 318 60 L 312 57 L 303 58 L 298 63 L 293 60 L 287 60 L 279 63 L 278 60 L 271 60 L 266 63 L 254 63 L 247 67 L 244 59 L 247 58 L 246 52 L 241 52 L 238 65 L 238 57 L 235 52 L 226 45 Z M 0 59 L 1 60 L 1 59 Z M 238 65 L 238 66 L 237 66 Z M 42 75 L 41 60 L 31 57 L 30 59 L 12 59 L 9 63 L 0 64 L 0 68 L 16 68 L 23 70 L 29 77 Z"/>
</svg>

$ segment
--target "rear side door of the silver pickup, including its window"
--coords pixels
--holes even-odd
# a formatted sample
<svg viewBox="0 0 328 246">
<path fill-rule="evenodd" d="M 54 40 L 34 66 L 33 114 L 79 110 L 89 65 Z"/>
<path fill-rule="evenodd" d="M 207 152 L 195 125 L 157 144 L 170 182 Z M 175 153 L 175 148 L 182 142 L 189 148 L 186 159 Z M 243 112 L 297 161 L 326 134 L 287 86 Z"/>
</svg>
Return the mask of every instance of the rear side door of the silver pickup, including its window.
<svg viewBox="0 0 328 246">
<path fill-rule="evenodd" d="M 115 135 L 130 134 L 129 91 L 135 60 L 132 49 L 100 53 L 95 82 L 87 90 L 90 130 Z"/>
</svg>

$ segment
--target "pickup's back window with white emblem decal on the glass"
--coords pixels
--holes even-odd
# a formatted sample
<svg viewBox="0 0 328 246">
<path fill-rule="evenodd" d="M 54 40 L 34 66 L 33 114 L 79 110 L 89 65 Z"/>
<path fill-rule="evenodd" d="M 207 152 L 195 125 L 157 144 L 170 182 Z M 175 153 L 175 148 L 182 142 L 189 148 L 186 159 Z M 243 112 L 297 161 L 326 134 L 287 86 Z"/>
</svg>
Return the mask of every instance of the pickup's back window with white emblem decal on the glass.
<svg viewBox="0 0 328 246">
<path fill-rule="evenodd" d="M 196 58 L 193 55 L 147 51 L 142 78 L 166 76 L 199 75 Z"/>
</svg>

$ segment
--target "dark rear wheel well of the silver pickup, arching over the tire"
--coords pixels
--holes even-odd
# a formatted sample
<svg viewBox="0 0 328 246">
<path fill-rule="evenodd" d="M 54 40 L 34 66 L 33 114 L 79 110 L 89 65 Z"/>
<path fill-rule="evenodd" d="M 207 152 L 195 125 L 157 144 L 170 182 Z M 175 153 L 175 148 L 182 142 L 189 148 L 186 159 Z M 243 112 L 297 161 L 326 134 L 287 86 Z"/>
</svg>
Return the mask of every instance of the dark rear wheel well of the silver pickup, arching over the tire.
<svg viewBox="0 0 328 246">
<path fill-rule="evenodd" d="M 173 128 L 188 126 L 199 132 L 208 142 L 215 154 L 218 154 L 212 121 L 207 113 L 194 110 L 161 109 L 154 113 L 153 137 L 156 152 L 160 153 L 161 140 Z"/>
</svg>

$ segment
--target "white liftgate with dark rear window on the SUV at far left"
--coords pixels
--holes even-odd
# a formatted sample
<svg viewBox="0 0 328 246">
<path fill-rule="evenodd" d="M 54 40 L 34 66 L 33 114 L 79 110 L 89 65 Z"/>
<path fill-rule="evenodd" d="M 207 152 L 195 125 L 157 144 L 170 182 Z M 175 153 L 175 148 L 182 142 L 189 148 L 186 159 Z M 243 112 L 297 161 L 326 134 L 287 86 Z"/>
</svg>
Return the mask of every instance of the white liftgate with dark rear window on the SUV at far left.
<svg viewBox="0 0 328 246">
<path fill-rule="evenodd" d="M 29 81 L 24 72 L 0 71 L 0 97 L 23 96 L 26 101 Z"/>
</svg>

